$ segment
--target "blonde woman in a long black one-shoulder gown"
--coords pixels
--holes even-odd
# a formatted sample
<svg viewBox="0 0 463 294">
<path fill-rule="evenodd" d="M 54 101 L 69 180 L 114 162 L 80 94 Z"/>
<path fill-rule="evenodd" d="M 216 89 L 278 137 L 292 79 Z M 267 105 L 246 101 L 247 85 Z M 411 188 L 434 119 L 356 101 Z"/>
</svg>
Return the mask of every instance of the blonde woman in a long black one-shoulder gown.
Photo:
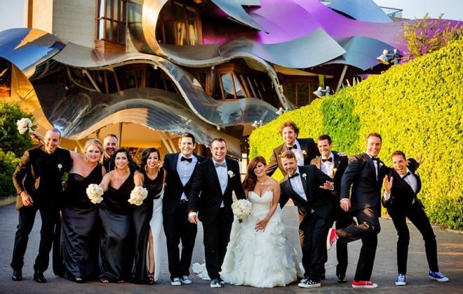
<svg viewBox="0 0 463 294">
<path fill-rule="evenodd" d="M 68 279 L 78 283 L 98 272 L 98 206 L 90 202 L 86 188 L 101 182 L 106 173 L 100 164 L 100 141 L 88 140 L 83 154 L 71 152 L 73 165 L 62 206 L 62 259 Z"/>
</svg>

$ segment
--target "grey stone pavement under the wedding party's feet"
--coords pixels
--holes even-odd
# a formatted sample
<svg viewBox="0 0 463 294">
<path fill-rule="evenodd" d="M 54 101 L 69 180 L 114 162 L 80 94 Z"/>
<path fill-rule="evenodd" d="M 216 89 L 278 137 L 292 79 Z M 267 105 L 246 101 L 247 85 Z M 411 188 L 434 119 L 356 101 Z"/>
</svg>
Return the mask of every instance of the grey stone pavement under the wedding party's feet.
<svg viewBox="0 0 463 294">
<path fill-rule="evenodd" d="M 297 236 L 297 211 L 294 206 L 283 209 L 286 220 L 286 229 L 290 242 L 300 252 Z M 135 285 L 131 283 L 102 284 L 99 281 L 78 284 L 53 276 L 51 269 L 45 273 L 47 283 L 39 284 L 32 279 L 34 259 L 38 250 L 40 216 L 37 213 L 36 224 L 29 238 L 29 246 L 25 255 L 25 267 L 22 274 L 24 281 L 11 280 L 11 253 L 14 242 L 16 225 L 18 225 L 18 213 L 13 205 L 0 207 L 0 293 L 344 293 L 344 292 L 375 292 L 375 293 L 463 293 L 463 235 L 454 232 L 446 232 L 434 227 L 438 243 L 438 261 L 441 271 L 448 276 L 450 282 L 438 283 L 430 281 L 427 277 L 428 265 L 424 253 L 424 242 L 420 233 L 409 225 L 410 248 L 408 254 L 408 286 L 396 287 L 396 232 L 391 220 L 381 219 L 382 231 L 379 236 L 375 267 L 373 269 L 373 281 L 379 284 L 375 290 L 354 290 L 350 283 L 338 284 L 335 276 L 335 249 L 329 252 L 326 264 L 326 277 L 322 281 L 321 288 L 302 289 L 297 283 L 290 286 L 272 289 L 251 288 L 246 286 L 226 285 L 222 289 L 211 289 L 208 281 L 202 281 L 192 274 L 193 284 L 189 286 L 170 286 L 167 269 L 167 256 L 163 257 L 161 276 L 154 286 Z M 194 249 L 193 262 L 203 262 L 203 231 L 199 225 Z M 163 252 L 166 253 L 165 240 Z M 351 281 L 356 269 L 356 261 L 361 246 L 361 241 L 349 243 L 349 267 L 347 278 Z M 271 256 L 268 256 L 271 258 Z"/>
</svg>

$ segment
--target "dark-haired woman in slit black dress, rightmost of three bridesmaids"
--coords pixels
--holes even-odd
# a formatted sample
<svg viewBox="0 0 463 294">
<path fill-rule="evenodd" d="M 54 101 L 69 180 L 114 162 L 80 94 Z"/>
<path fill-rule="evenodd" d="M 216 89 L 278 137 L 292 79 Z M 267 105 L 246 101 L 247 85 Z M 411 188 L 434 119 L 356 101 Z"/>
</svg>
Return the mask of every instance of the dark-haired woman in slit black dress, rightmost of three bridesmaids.
<svg viewBox="0 0 463 294">
<path fill-rule="evenodd" d="M 131 273 L 133 283 L 154 284 L 153 235 L 149 221 L 153 216 L 153 201 L 161 197 L 163 189 L 164 170 L 160 168 L 159 159 L 161 159 L 161 154 L 158 149 L 154 147 L 145 149 L 142 153 L 140 172 L 135 173 L 134 176 L 135 187 L 145 187 L 148 190 L 148 196 L 142 205 L 137 206 L 133 211 L 135 231 L 135 258 Z M 149 268 L 147 268 L 147 260 Z"/>
</svg>

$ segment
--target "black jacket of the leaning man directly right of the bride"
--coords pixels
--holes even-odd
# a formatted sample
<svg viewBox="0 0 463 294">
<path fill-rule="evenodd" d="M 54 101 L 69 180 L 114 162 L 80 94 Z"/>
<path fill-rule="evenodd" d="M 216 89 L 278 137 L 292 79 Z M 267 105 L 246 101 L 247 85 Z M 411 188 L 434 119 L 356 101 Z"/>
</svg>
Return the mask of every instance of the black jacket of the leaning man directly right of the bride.
<svg viewBox="0 0 463 294">
<path fill-rule="evenodd" d="M 281 208 L 285 206 L 289 199 L 292 199 L 295 206 L 297 206 L 299 215 L 302 216 L 302 218 L 300 218 L 300 220 L 302 220 L 301 223 L 304 222 L 305 216 L 307 213 L 310 213 L 311 209 L 321 218 L 331 220 L 333 218 L 334 196 L 327 190 L 321 189 L 319 186 L 323 185 L 327 180 L 330 182 L 333 182 L 333 180 L 316 168 L 316 166 L 299 166 L 299 172 L 307 201 L 294 192 L 290 184 L 289 176 L 286 175 L 280 182 Z"/>
</svg>

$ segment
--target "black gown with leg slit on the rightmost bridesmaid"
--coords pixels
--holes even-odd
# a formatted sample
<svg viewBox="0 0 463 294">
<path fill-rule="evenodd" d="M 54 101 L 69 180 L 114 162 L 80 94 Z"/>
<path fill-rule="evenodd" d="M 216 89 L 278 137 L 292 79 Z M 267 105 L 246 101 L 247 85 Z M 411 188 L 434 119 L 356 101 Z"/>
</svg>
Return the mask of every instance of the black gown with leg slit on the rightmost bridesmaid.
<svg viewBox="0 0 463 294">
<path fill-rule="evenodd" d="M 153 200 L 161 197 L 163 186 L 164 170 L 160 169 L 157 177 L 151 180 L 145 171 L 143 187 L 148 190 L 148 196 L 142 205 L 136 206 L 133 211 L 133 227 L 135 233 L 135 257 L 132 266 L 131 281 L 133 283 L 147 283 L 147 248 L 149 221 L 153 216 Z M 153 250 L 150 248 L 149 250 Z"/>
</svg>

